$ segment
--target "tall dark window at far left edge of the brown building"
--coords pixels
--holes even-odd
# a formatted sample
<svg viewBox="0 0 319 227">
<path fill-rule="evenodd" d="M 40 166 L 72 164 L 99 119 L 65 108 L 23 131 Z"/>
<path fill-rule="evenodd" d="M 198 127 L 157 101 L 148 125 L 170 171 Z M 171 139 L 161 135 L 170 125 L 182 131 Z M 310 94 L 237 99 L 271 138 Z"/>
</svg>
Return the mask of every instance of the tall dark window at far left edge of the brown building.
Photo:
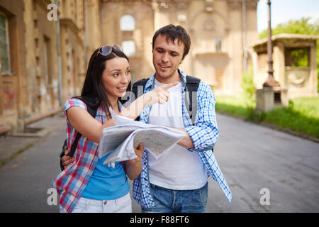
<svg viewBox="0 0 319 227">
<path fill-rule="evenodd" d="M 11 72 L 8 33 L 8 19 L 3 13 L 0 13 L 0 49 L 2 74 L 8 74 Z"/>
</svg>

